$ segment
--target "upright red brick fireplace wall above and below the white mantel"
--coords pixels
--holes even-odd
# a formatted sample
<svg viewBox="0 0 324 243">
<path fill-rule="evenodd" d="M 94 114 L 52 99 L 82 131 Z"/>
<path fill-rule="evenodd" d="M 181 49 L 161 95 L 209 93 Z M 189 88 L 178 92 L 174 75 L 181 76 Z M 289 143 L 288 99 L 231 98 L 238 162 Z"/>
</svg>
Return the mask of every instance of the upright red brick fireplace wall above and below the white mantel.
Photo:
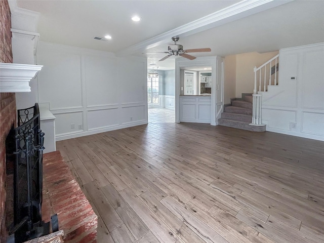
<svg viewBox="0 0 324 243">
<path fill-rule="evenodd" d="M 8 1 L 0 1 L 0 62 L 12 63 L 11 15 Z M 0 242 L 6 242 L 6 137 L 16 126 L 15 93 L 0 93 Z"/>
</svg>

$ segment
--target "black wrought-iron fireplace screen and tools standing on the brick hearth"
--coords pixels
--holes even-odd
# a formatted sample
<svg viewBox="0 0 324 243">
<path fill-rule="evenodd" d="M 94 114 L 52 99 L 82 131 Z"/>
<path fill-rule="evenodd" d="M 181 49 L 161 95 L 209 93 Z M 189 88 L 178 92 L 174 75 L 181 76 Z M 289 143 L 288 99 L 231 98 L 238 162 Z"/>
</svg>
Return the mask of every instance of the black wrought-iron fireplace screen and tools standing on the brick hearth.
<svg viewBox="0 0 324 243">
<path fill-rule="evenodd" d="M 20 243 L 58 230 L 57 215 L 42 220 L 44 133 L 39 108 L 18 110 L 18 127 L 6 139 L 7 173 L 13 173 L 14 219 L 7 242 Z M 52 226 L 52 229 L 50 229 Z"/>
</svg>

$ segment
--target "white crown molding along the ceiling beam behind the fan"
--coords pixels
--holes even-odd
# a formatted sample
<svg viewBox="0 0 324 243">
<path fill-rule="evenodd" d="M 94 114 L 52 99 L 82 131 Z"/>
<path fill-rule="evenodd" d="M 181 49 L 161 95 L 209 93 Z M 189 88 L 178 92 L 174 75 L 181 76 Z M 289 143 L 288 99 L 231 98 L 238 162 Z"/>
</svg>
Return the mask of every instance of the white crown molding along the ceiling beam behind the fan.
<svg viewBox="0 0 324 243">
<path fill-rule="evenodd" d="M 178 28 L 156 35 L 144 42 L 118 51 L 116 52 L 116 56 L 129 55 L 133 54 L 137 50 L 146 50 L 157 47 L 161 44 L 170 42 L 172 36 L 189 36 L 292 1 L 294 0 L 244 0 Z"/>
</svg>

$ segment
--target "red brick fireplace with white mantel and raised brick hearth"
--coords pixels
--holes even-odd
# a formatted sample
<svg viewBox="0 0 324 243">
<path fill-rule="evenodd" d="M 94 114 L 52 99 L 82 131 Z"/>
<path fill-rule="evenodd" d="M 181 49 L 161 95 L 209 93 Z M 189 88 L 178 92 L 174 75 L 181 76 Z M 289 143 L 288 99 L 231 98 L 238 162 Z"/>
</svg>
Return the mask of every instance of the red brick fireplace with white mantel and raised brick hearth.
<svg viewBox="0 0 324 243">
<path fill-rule="evenodd" d="M 13 63 L 11 13 L 8 0 L 0 0 L 0 63 L 0 71 L 2 71 L 2 73 L 5 73 L 5 68 L 8 70 L 8 66 L 10 66 L 11 69 L 13 69 L 12 67 L 14 66 L 15 71 L 12 73 L 15 75 L 20 75 L 18 69 L 20 68 L 25 70 L 26 66 L 33 66 L 28 67 L 28 70 L 31 70 L 31 72 L 34 73 L 33 75 L 35 75 L 36 71 L 41 69 L 39 67 L 42 67 L 25 64 L 3 64 Z M 21 67 L 23 65 L 25 65 L 24 68 Z M 10 74 L 12 75 L 12 73 Z M 28 73 L 27 75 L 31 74 Z M 2 78 L 4 76 L 6 77 L 6 75 L 2 75 Z M 1 84 L 3 83 L 6 82 L 2 82 Z M 7 169 L 10 170 L 11 166 L 10 163 L 8 164 L 8 161 L 10 160 L 8 159 L 8 161 L 6 161 L 6 138 L 11 128 L 17 127 L 17 110 L 15 93 L 1 93 L 1 91 L 28 91 L 13 91 L 12 89 L 5 90 L 2 87 L 3 86 L 0 86 L 0 89 L 2 89 L 0 90 L 0 242 L 7 242 L 7 227 L 12 223 L 11 221 L 13 218 L 13 201 L 10 200 L 13 200 L 14 196 L 13 176 L 12 174 L 7 175 Z M 44 218 L 42 219 L 45 222 L 48 222 L 50 216 L 57 213 L 59 218 L 59 229 L 64 230 L 64 242 L 96 242 L 97 216 L 86 196 L 73 178 L 67 164 L 59 152 L 47 153 L 44 157 L 44 207 L 42 208 Z M 8 168 L 6 168 L 7 166 Z M 11 211 L 9 209 L 11 209 Z M 6 215 L 8 216 L 7 218 Z"/>
</svg>

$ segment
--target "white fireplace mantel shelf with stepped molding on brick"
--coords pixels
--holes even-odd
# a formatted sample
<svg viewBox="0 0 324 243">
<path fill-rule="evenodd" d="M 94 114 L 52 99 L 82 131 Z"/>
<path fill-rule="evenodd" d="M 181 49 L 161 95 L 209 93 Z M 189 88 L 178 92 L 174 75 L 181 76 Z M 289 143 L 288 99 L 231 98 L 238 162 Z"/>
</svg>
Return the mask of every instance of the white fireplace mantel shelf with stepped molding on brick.
<svg viewBox="0 0 324 243">
<path fill-rule="evenodd" d="M 0 93 L 30 92 L 29 81 L 41 65 L 0 63 Z"/>
</svg>

